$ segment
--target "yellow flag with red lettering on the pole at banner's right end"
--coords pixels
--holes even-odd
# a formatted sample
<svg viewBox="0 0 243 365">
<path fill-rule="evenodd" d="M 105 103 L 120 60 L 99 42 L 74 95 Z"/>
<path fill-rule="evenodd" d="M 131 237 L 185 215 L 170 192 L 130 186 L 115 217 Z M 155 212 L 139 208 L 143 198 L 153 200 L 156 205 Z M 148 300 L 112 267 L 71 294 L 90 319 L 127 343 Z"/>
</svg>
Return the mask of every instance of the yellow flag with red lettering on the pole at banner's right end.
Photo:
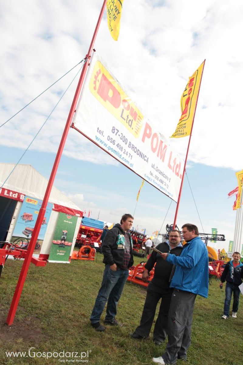
<svg viewBox="0 0 243 365">
<path fill-rule="evenodd" d="M 170 138 L 187 137 L 191 133 L 204 64 L 205 60 L 189 77 L 189 81 L 181 96 L 181 118 Z"/>
</svg>

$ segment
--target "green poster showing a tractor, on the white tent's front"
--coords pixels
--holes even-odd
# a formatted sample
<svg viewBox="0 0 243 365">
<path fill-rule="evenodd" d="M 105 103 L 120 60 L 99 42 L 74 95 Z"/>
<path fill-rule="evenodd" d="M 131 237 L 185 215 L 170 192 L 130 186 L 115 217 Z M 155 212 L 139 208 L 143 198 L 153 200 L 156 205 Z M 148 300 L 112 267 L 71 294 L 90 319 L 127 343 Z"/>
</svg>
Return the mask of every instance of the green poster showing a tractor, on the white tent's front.
<svg viewBox="0 0 243 365">
<path fill-rule="evenodd" d="M 69 262 L 78 217 L 59 213 L 49 254 L 49 262 Z"/>
</svg>

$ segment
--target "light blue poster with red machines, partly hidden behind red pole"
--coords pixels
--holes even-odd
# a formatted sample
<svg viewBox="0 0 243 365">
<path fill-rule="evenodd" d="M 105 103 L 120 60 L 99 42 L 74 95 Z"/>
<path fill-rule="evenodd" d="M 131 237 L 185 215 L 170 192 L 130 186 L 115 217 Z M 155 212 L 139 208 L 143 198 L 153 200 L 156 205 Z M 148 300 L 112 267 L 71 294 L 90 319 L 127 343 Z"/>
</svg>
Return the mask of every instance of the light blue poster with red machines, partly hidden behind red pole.
<svg viewBox="0 0 243 365">
<path fill-rule="evenodd" d="M 28 241 L 31 239 L 32 232 L 35 227 L 36 219 L 39 214 L 40 207 L 42 205 L 42 200 L 32 198 L 30 196 L 25 196 L 24 201 L 20 210 L 19 218 L 15 225 L 13 236 L 11 242 L 16 241 L 16 239 L 22 237 L 23 240 L 20 241 L 21 248 L 27 246 Z M 45 233 L 47 224 L 50 219 L 51 210 L 53 208 L 53 204 L 48 203 L 46 207 L 46 213 L 42 221 L 42 225 L 40 227 L 40 232 L 38 235 L 38 240 L 35 244 L 34 253 L 38 253 L 40 251 Z M 25 238 L 25 239 L 24 239 Z"/>
</svg>

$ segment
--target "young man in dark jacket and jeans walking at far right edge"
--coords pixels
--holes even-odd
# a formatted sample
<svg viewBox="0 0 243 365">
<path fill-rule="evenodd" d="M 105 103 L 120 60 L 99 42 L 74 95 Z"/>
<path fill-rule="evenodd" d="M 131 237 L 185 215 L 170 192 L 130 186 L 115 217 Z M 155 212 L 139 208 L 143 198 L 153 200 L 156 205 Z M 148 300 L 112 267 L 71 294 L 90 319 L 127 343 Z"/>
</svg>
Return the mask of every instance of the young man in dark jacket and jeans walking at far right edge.
<svg viewBox="0 0 243 365">
<path fill-rule="evenodd" d="M 225 300 L 224 300 L 224 314 L 221 318 L 229 318 L 229 307 L 231 302 L 231 297 L 233 293 L 233 308 L 232 308 L 232 318 L 237 317 L 237 311 L 239 308 L 239 296 L 240 289 L 239 285 L 242 283 L 243 279 L 243 264 L 240 262 L 240 253 L 234 252 L 232 255 L 233 260 L 227 262 L 225 265 L 223 274 L 221 275 L 220 288 L 223 288 L 223 283 L 226 280 L 225 287 Z"/>
</svg>

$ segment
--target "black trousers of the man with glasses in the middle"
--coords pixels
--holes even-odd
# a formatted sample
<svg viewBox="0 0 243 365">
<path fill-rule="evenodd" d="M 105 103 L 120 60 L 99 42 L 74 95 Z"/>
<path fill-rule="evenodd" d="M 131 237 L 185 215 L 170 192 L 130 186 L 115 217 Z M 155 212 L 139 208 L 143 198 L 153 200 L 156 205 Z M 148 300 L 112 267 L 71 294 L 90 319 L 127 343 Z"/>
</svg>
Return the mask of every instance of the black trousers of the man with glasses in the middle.
<svg viewBox="0 0 243 365">
<path fill-rule="evenodd" d="M 154 326 L 153 338 L 164 341 L 167 336 L 167 321 L 170 307 L 170 299 L 173 289 L 159 288 L 153 283 L 149 283 L 147 287 L 147 295 L 143 307 L 143 313 L 140 320 L 140 325 L 136 328 L 135 333 L 142 337 L 148 337 L 159 299 L 161 304 L 159 314 Z"/>
</svg>

